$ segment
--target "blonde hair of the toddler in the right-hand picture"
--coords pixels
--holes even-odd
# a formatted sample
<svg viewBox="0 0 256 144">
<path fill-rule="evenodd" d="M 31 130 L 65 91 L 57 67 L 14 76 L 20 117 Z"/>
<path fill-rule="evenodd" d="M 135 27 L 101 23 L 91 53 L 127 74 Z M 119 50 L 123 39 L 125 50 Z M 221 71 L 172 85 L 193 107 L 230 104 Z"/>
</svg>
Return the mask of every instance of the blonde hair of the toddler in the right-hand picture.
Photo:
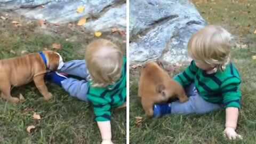
<svg viewBox="0 0 256 144">
<path fill-rule="evenodd" d="M 225 70 L 230 62 L 231 35 L 221 26 L 209 25 L 197 31 L 188 42 L 188 54 L 194 60 L 217 65 Z"/>
</svg>

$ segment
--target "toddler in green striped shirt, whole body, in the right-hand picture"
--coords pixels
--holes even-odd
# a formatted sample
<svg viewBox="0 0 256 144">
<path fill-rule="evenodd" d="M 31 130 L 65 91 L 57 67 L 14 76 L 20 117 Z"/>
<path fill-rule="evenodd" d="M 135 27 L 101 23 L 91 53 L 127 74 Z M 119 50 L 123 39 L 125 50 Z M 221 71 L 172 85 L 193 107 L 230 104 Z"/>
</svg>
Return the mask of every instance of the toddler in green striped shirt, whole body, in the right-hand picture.
<svg viewBox="0 0 256 144">
<path fill-rule="evenodd" d="M 205 114 L 226 109 L 225 135 L 242 139 L 236 133 L 240 106 L 241 79 L 230 62 L 230 33 L 220 26 L 206 26 L 188 42 L 188 54 L 193 59 L 183 73 L 174 77 L 185 89 L 189 100 L 154 105 L 154 116 L 166 114 Z"/>
</svg>

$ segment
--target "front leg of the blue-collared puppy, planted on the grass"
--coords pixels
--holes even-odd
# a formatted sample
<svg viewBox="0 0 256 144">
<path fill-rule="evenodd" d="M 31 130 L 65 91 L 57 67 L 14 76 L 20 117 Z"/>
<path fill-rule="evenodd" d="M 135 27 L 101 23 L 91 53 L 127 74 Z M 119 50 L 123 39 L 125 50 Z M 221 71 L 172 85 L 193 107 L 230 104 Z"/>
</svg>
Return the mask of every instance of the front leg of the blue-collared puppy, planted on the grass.
<svg viewBox="0 0 256 144">
<path fill-rule="evenodd" d="M 52 93 L 48 92 L 47 87 L 44 83 L 44 75 L 38 75 L 34 77 L 34 82 L 36 84 L 39 92 L 44 96 L 45 100 L 50 100 L 52 98 Z"/>
</svg>

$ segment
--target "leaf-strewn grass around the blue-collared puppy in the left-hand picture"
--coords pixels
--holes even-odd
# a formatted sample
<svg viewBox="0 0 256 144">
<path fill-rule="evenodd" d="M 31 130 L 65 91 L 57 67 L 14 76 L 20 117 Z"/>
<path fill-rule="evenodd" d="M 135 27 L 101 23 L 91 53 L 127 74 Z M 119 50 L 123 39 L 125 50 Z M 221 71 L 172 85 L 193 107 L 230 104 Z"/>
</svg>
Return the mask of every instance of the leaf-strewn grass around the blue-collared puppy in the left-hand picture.
<svg viewBox="0 0 256 144">
<path fill-rule="evenodd" d="M 11 19 L 0 20 L 0 59 L 22 55 L 24 50 L 39 52 L 44 47 L 59 52 L 64 61 L 84 59 L 82 47 L 95 38 L 93 33 L 64 31 L 67 29 L 65 26 L 60 27 L 63 30 L 61 36 L 29 30 L 37 28 L 35 22 L 22 22 L 22 26 L 17 28 L 11 25 Z M 65 34 L 77 35 L 80 39 L 77 42 L 68 42 L 67 37 L 63 36 Z M 53 43 L 60 43 L 61 50 L 51 49 Z M 125 44 L 122 44 L 122 49 L 125 50 Z M 34 83 L 12 90 L 13 97 L 18 97 L 21 93 L 26 99 L 18 105 L 0 99 L 0 143 L 100 143 L 100 132 L 94 120 L 92 106 L 71 98 L 59 86 L 49 82 L 46 82 L 46 86 L 54 95 L 50 101 L 43 99 Z M 125 111 L 125 108 L 111 110 L 112 137 L 115 143 L 126 142 Z M 41 115 L 40 121 L 32 117 L 34 112 Z M 29 125 L 36 126 L 31 133 L 26 130 Z"/>
</svg>

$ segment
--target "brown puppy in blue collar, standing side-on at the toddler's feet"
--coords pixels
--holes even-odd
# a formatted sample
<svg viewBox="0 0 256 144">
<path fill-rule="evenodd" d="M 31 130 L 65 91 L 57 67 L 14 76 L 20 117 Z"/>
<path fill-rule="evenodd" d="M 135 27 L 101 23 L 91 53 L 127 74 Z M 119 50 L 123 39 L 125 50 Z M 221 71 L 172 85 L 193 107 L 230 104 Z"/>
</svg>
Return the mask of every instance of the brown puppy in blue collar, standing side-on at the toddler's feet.
<svg viewBox="0 0 256 144">
<path fill-rule="evenodd" d="M 43 51 L 42 53 L 43 56 L 39 53 L 31 53 L 21 57 L 0 60 L 0 91 L 3 99 L 12 103 L 19 102 L 18 98 L 11 96 L 11 86 L 17 87 L 31 81 L 35 82 L 45 100 L 52 98 L 52 94 L 48 92 L 45 86 L 44 74 L 47 70 L 55 71 L 62 67 L 63 62 L 57 52 Z M 43 57 L 46 59 L 46 65 Z"/>
</svg>

